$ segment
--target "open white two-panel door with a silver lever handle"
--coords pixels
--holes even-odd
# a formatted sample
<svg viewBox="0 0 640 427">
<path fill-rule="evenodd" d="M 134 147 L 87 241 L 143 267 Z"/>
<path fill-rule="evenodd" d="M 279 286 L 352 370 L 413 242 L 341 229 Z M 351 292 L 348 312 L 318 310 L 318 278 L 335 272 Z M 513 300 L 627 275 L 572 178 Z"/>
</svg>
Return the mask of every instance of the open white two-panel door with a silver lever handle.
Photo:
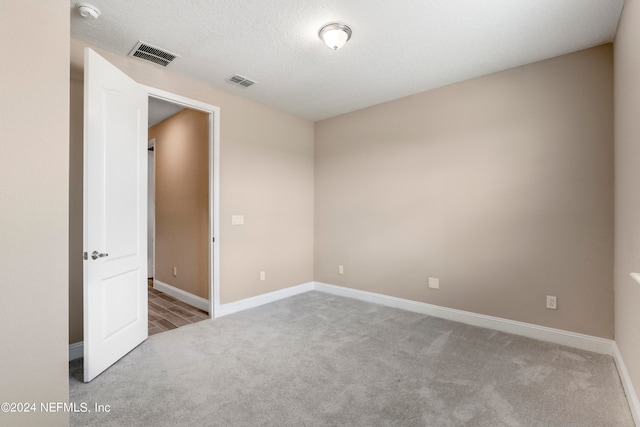
<svg viewBox="0 0 640 427">
<path fill-rule="evenodd" d="M 146 89 L 91 49 L 84 75 L 84 381 L 147 338 Z"/>
</svg>

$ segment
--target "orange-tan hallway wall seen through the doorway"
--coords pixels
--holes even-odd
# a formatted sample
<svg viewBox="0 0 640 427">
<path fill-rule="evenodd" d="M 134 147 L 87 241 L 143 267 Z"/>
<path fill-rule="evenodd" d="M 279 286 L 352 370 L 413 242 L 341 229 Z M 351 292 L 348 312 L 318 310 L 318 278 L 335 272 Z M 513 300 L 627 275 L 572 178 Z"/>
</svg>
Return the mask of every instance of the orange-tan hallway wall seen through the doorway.
<svg viewBox="0 0 640 427">
<path fill-rule="evenodd" d="M 149 128 L 151 138 L 156 140 L 154 278 L 209 299 L 209 116 L 182 110 Z"/>
</svg>

